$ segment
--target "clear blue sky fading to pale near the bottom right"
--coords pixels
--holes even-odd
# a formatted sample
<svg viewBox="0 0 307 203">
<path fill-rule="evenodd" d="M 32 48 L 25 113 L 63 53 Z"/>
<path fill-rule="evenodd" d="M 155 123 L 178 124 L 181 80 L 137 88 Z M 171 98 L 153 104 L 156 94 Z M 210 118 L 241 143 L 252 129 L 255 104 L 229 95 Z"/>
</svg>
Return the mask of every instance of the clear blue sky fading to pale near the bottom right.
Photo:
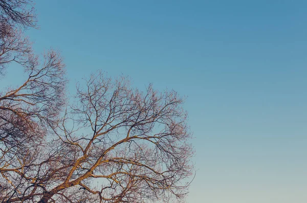
<svg viewBox="0 0 307 203">
<path fill-rule="evenodd" d="M 35 2 L 71 92 L 102 69 L 188 97 L 189 203 L 307 202 L 307 1 Z"/>
</svg>

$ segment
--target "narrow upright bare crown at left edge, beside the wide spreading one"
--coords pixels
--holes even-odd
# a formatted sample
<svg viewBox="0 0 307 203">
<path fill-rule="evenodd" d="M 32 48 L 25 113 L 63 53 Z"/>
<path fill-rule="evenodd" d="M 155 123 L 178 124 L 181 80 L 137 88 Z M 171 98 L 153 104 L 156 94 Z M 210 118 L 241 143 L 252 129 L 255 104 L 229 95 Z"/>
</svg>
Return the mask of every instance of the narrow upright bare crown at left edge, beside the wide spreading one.
<svg viewBox="0 0 307 203">
<path fill-rule="evenodd" d="M 26 171 L 32 173 L 31 167 L 45 161 L 37 156 L 49 143 L 48 133 L 64 105 L 64 66 L 55 51 L 47 53 L 41 65 L 36 56 L 29 56 L 24 66 L 28 79 L 0 94 L 0 187 L 6 182 L 10 186 L 2 193 L 5 198 L 19 193 L 18 187 L 31 177 Z"/>
</svg>

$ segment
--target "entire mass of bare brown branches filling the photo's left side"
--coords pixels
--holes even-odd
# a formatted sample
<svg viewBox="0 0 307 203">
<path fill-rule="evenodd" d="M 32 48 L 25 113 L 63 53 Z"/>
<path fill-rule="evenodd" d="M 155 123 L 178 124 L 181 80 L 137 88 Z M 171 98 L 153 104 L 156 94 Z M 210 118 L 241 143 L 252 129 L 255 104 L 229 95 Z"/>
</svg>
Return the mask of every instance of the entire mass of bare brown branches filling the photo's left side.
<svg viewBox="0 0 307 203">
<path fill-rule="evenodd" d="M 0 201 L 184 201 L 193 169 L 184 99 L 98 71 L 67 102 L 60 55 L 40 59 L 22 36 L 36 26 L 28 3 L 0 3 L 0 69 L 15 62 L 28 75 L 0 92 Z"/>
</svg>

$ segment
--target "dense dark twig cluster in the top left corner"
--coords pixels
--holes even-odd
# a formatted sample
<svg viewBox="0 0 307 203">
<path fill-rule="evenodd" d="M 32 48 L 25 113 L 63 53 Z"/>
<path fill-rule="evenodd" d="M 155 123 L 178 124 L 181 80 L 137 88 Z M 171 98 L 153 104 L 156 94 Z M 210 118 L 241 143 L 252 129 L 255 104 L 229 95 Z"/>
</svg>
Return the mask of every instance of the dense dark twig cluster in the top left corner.
<svg viewBox="0 0 307 203">
<path fill-rule="evenodd" d="M 32 49 L 22 31 L 36 27 L 34 11 L 30 0 L 0 1 L 0 74 L 9 62 L 27 61 Z"/>
</svg>

